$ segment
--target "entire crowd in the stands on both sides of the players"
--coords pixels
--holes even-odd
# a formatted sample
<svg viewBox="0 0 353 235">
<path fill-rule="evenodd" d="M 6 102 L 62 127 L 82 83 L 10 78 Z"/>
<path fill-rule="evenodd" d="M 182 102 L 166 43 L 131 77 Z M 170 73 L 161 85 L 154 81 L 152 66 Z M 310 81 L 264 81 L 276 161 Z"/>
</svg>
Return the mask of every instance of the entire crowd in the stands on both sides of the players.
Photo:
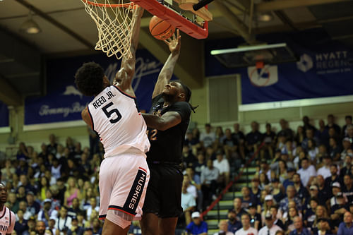
<svg viewBox="0 0 353 235">
<path fill-rule="evenodd" d="M 245 134 L 239 123 L 233 131 L 210 124 L 203 132 L 189 131 L 179 230 L 207 234 L 201 213 L 254 155 L 256 175 L 234 198 L 218 235 L 353 234 L 352 116 L 345 121 L 341 128 L 328 115 L 327 124 L 321 120 L 316 127 L 305 116 L 297 132 L 285 119 L 277 131 L 266 124 L 265 133 L 256 121 Z M 98 172 L 104 150 L 95 133 L 89 137 L 90 147 L 81 147 L 70 137 L 61 145 L 50 135 L 37 152 L 20 143 L 16 159 L 3 163 L 14 233 L 101 234 Z M 138 223 L 129 234 L 140 234 Z"/>
</svg>

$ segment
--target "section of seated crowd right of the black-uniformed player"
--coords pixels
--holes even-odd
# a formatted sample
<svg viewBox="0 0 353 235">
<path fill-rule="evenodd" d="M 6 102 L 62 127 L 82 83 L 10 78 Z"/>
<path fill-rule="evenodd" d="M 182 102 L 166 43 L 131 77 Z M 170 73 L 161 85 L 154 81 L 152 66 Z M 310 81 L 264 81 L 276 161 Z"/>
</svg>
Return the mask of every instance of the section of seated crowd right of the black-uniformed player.
<svg viewBox="0 0 353 235">
<path fill-rule="evenodd" d="M 278 131 L 267 123 L 264 133 L 256 121 L 245 134 L 239 123 L 233 132 L 221 127 L 213 131 L 210 124 L 203 133 L 197 128 L 188 132 L 183 151 L 184 218 L 179 218 L 187 233 L 207 233 L 196 226 L 202 223 L 193 212 L 204 211 L 234 171 L 254 156 L 256 174 L 241 188 L 241 197 L 234 198 L 227 230 L 221 221 L 217 234 L 353 234 L 352 116 L 345 117 L 342 128 L 332 114 L 318 127 L 308 116 L 302 121 L 297 132 L 285 119 Z"/>
</svg>

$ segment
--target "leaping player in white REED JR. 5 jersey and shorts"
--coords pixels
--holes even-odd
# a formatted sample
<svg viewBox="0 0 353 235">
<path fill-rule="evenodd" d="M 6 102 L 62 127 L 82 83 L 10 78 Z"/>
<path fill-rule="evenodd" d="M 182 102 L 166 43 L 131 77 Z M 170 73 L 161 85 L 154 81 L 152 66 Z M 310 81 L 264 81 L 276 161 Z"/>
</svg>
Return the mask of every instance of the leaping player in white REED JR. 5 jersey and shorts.
<svg viewBox="0 0 353 235">
<path fill-rule="evenodd" d="M 150 178 L 145 152 L 150 143 L 147 127 L 138 112 L 131 87 L 135 72 L 143 8 L 138 8 L 131 41 L 133 58 L 123 58 L 114 85 L 102 67 L 86 63 L 76 72 L 75 82 L 83 95 L 94 96 L 82 118 L 100 135 L 104 160 L 100 165 L 100 219 L 102 234 L 127 234 L 131 221 L 142 215 L 145 191 Z"/>
</svg>

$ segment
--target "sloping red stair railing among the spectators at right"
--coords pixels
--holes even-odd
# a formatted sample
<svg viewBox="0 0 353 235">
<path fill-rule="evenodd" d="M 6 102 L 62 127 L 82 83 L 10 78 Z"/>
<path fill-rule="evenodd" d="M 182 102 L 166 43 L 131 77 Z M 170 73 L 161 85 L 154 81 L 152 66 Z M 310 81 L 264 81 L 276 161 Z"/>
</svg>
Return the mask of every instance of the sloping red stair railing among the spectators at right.
<svg viewBox="0 0 353 235">
<path fill-rule="evenodd" d="M 220 220 L 220 204 L 219 204 L 220 200 L 222 199 L 223 195 L 225 195 L 225 193 L 227 193 L 229 188 L 232 187 L 234 185 L 234 183 L 236 183 L 240 179 L 240 177 L 243 175 L 244 168 L 246 169 L 246 177 L 249 177 L 249 174 L 248 174 L 249 165 L 251 164 L 251 162 L 253 162 L 253 159 L 256 157 L 256 155 L 258 155 L 258 152 L 260 152 L 263 145 L 265 145 L 265 142 L 261 143 L 261 145 L 258 146 L 258 149 L 256 150 L 256 152 L 254 152 L 253 155 L 248 159 L 248 161 L 246 161 L 244 167 L 241 169 L 239 174 L 237 176 L 235 176 L 234 179 L 227 184 L 227 186 L 225 186 L 225 188 L 221 191 L 220 195 L 218 195 L 216 200 L 214 200 L 213 203 L 211 203 L 208 206 L 208 208 L 204 212 L 202 212 L 201 218 L 203 218 L 205 215 L 207 215 L 207 213 L 217 205 L 217 218 L 218 218 L 218 220 Z M 248 178 L 246 178 L 246 181 L 248 182 Z M 233 190 L 233 198 L 235 198 L 234 192 L 235 192 L 235 190 Z"/>
</svg>

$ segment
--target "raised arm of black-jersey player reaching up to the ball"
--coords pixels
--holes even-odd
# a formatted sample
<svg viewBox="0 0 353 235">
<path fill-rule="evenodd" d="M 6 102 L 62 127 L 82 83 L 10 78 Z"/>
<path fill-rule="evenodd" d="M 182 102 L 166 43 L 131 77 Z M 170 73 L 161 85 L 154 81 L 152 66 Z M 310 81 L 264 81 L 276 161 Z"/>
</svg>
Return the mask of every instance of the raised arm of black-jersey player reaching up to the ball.
<svg viewBox="0 0 353 235">
<path fill-rule="evenodd" d="M 170 78 L 173 76 L 174 67 L 175 64 L 177 64 L 181 47 L 181 36 L 179 35 L 179 30 L 177 30 L 177 35 L 174 34 L 172 38 L 164 40 L 164 42 L 169 47 L 170 55 L 160 71 L 157 83 L 155 83 L 155 90 L 153 90 L 152 99 L 162 93 L 164 85 L 167 85 Z"/>
</svg>

